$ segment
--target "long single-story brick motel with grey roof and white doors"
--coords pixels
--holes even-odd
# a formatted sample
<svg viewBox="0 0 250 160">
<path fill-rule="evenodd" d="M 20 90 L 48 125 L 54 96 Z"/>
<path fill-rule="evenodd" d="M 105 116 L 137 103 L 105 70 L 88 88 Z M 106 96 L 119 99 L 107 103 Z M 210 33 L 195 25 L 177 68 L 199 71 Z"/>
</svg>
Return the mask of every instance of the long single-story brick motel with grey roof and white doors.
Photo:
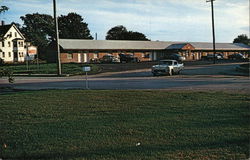
<svg viewBox="0 0 250 160">
<path fill-rule="evenodd" d="M 119 57 L 120 53 L 132 54 L 140 61 L 157 61 L 165 59 L 168 54 L 178 53 L 187 61 L 193 61 L 213 53 L 213 44 L 206 42 L 60 39 L 59 44 L 62 63 L 89 63 L 106 54 Z M 56 57 L 55 49 L 50 52 L 53 52 L 49 53 L 52 59 Z M 223 54 L 224 58 L 234 53 L 249 57 L 250 46 L 241 43 L 216 43 L 216 53 Z"/>
</svg>

